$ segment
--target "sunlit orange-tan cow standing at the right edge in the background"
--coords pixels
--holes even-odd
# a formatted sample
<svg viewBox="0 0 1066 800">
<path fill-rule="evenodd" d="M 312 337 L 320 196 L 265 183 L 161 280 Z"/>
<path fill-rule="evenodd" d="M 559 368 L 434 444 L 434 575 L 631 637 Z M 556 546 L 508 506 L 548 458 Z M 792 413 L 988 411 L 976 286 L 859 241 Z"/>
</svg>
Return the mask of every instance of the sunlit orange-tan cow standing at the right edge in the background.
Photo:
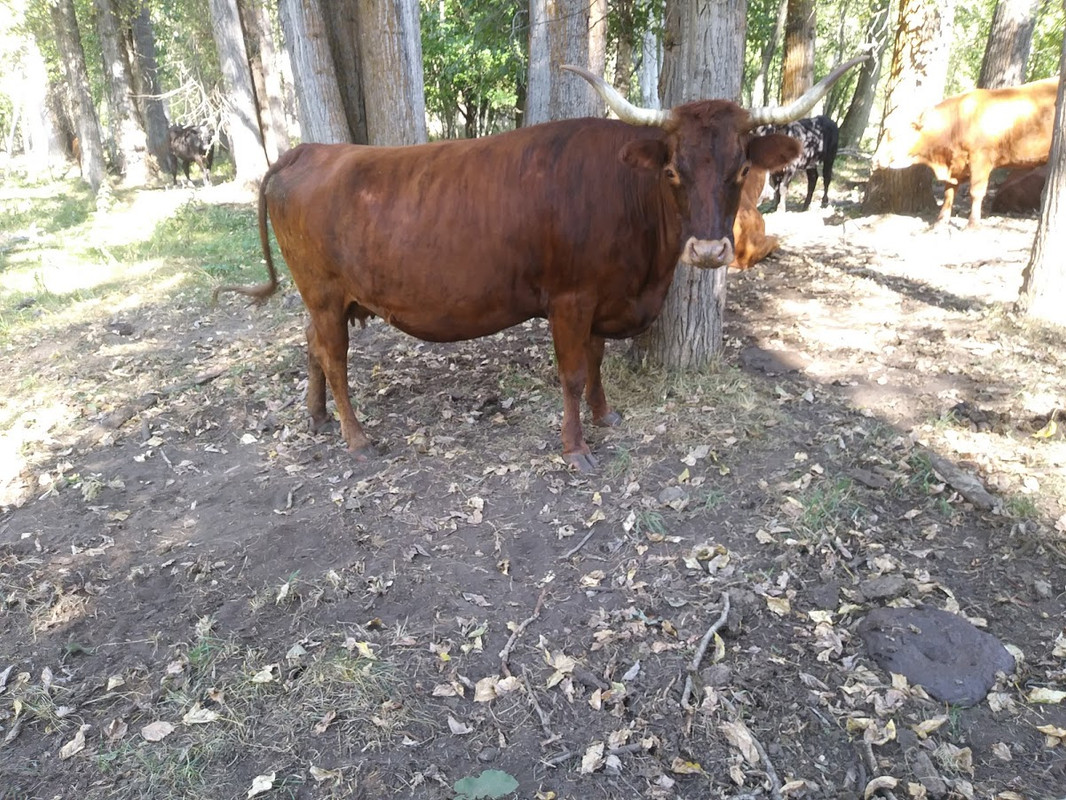
<svg viewBox="0 0 1066 800">
<path fill-rule="evenodd" d="M 944 181 L 937 224 L 951 219 L 955 190 L 970 180 L 971 227 L 981 223 L 988 175 L 998 166 L 1035 166 L 1048 160 L 1059 79 L 1007 89 L 975 89 L 922 112 L 902 130 L 886 131 L 874 169 L 927 164 Z"/>
</svg>

